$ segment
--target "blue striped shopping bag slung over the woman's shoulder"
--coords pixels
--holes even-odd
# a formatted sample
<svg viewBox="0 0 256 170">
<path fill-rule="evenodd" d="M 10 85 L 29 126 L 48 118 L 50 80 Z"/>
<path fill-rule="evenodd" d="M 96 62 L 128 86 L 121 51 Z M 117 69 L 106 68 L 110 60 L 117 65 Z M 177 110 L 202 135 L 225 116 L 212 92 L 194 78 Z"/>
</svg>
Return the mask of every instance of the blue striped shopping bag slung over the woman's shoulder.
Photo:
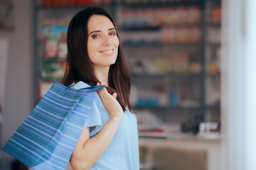
<svg viewBox="0 0 256 170">
<path fill-rule="evenodd" d="M 65 169 L 95 100 L 90 92 L 102 88 L 55 81 L 3 150 L 32 169 Z"/>
</svg>

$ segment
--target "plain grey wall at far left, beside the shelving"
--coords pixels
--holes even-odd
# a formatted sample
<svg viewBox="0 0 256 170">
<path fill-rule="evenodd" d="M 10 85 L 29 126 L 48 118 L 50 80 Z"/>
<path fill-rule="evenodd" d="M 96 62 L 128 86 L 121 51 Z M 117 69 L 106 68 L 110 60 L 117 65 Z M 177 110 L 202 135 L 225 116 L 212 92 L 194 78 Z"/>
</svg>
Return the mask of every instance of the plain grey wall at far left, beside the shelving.
<svg viewBox="0 0 256 170">
<path fill-rule="evenodd" d="M 32 0 L 14 1 L 13 32 L 0 30 L 9 38 L 6 89 L 2 108 L 1 148 L 33 108 L 33 4 Z M 0 169 L 9 170 L 13 159 L 1 151 Z"/>
</svg>

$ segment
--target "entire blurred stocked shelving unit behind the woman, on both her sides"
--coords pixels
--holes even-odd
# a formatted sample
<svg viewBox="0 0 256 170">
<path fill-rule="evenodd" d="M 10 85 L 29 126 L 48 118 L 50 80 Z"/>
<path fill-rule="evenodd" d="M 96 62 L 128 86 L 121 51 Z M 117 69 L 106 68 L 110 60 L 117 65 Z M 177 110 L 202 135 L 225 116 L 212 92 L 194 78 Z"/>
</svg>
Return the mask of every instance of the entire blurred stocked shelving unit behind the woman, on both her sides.
<svg viewBox="0 0 256 170">
<path fill-rule="evenodd" d="M 139 128 L 220 123 L 220 0 L 34 2 L 36 102 L 63 77 L 70 19 L 101 6 L 119 29 Z"/>
</svg>

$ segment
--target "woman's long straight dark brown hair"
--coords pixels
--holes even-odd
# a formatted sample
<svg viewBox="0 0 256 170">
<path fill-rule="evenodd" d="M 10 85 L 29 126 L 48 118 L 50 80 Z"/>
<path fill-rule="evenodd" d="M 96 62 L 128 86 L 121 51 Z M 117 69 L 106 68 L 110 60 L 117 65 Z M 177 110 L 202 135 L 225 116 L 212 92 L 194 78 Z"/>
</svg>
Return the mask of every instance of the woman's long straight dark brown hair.
<svg viewBox="0 0 256 170">
<path fill-rule="evenodd" d="M 75 14 L 68 26 L 67 67 L 62 80 L 62 83 L 65 86 L 70 86 L 70 84 L 77 83 L 78 81 L 84 81 L 90 86 L 95 86 L 97 82 L 100 82 L 95 77 L 93 65 L 87 52 L 87 23 L 92 15 L 107 16 L 117 30 L 117 26 L 110 14 L 100 7 L 87 7 Z M 117 37 L 119 38 L 118 30 Z M 131 77 L 124 58 L 121 42 L 119 42 L 117 60 L 114 64 L 110 65 L 108 79 L 109 87 L 107 87 L 107 91 L 109 91 L 110 94 L 113 94 L 114 92 L 117 93 L 117 101 L 122 106 L 123 111 L 126 111 L 126 106 L 128 106 L 129 111 L 134 112 L 134 108 L 129 99 Z"/>
</svg>

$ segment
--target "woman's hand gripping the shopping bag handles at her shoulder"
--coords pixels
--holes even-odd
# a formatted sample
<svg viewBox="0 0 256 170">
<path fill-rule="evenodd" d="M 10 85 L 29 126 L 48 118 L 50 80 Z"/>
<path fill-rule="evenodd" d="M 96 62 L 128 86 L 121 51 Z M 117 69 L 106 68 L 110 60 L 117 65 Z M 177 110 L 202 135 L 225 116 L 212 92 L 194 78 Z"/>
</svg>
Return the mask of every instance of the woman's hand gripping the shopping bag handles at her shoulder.
<svg viewBox="0 0 256 170">
<path fill-rule="evenodd" d="M 104 82 L 102 84 L 97 83 L 97 86 L 105 85 Z M 100 89 L 97 91 L 97 94 L 99 94 L 100 99 L 103 103 L 103 106 L 107 110 L 107 112 L 110 114 L 110 118 L 121 118 L 122 115 L 124 115 L 124 112 L 122 110 L 122 107 L 120 106 L 119 102 L 117 101 L 117 93 L 110 94 L 106 88 Z"/>
</svg>

